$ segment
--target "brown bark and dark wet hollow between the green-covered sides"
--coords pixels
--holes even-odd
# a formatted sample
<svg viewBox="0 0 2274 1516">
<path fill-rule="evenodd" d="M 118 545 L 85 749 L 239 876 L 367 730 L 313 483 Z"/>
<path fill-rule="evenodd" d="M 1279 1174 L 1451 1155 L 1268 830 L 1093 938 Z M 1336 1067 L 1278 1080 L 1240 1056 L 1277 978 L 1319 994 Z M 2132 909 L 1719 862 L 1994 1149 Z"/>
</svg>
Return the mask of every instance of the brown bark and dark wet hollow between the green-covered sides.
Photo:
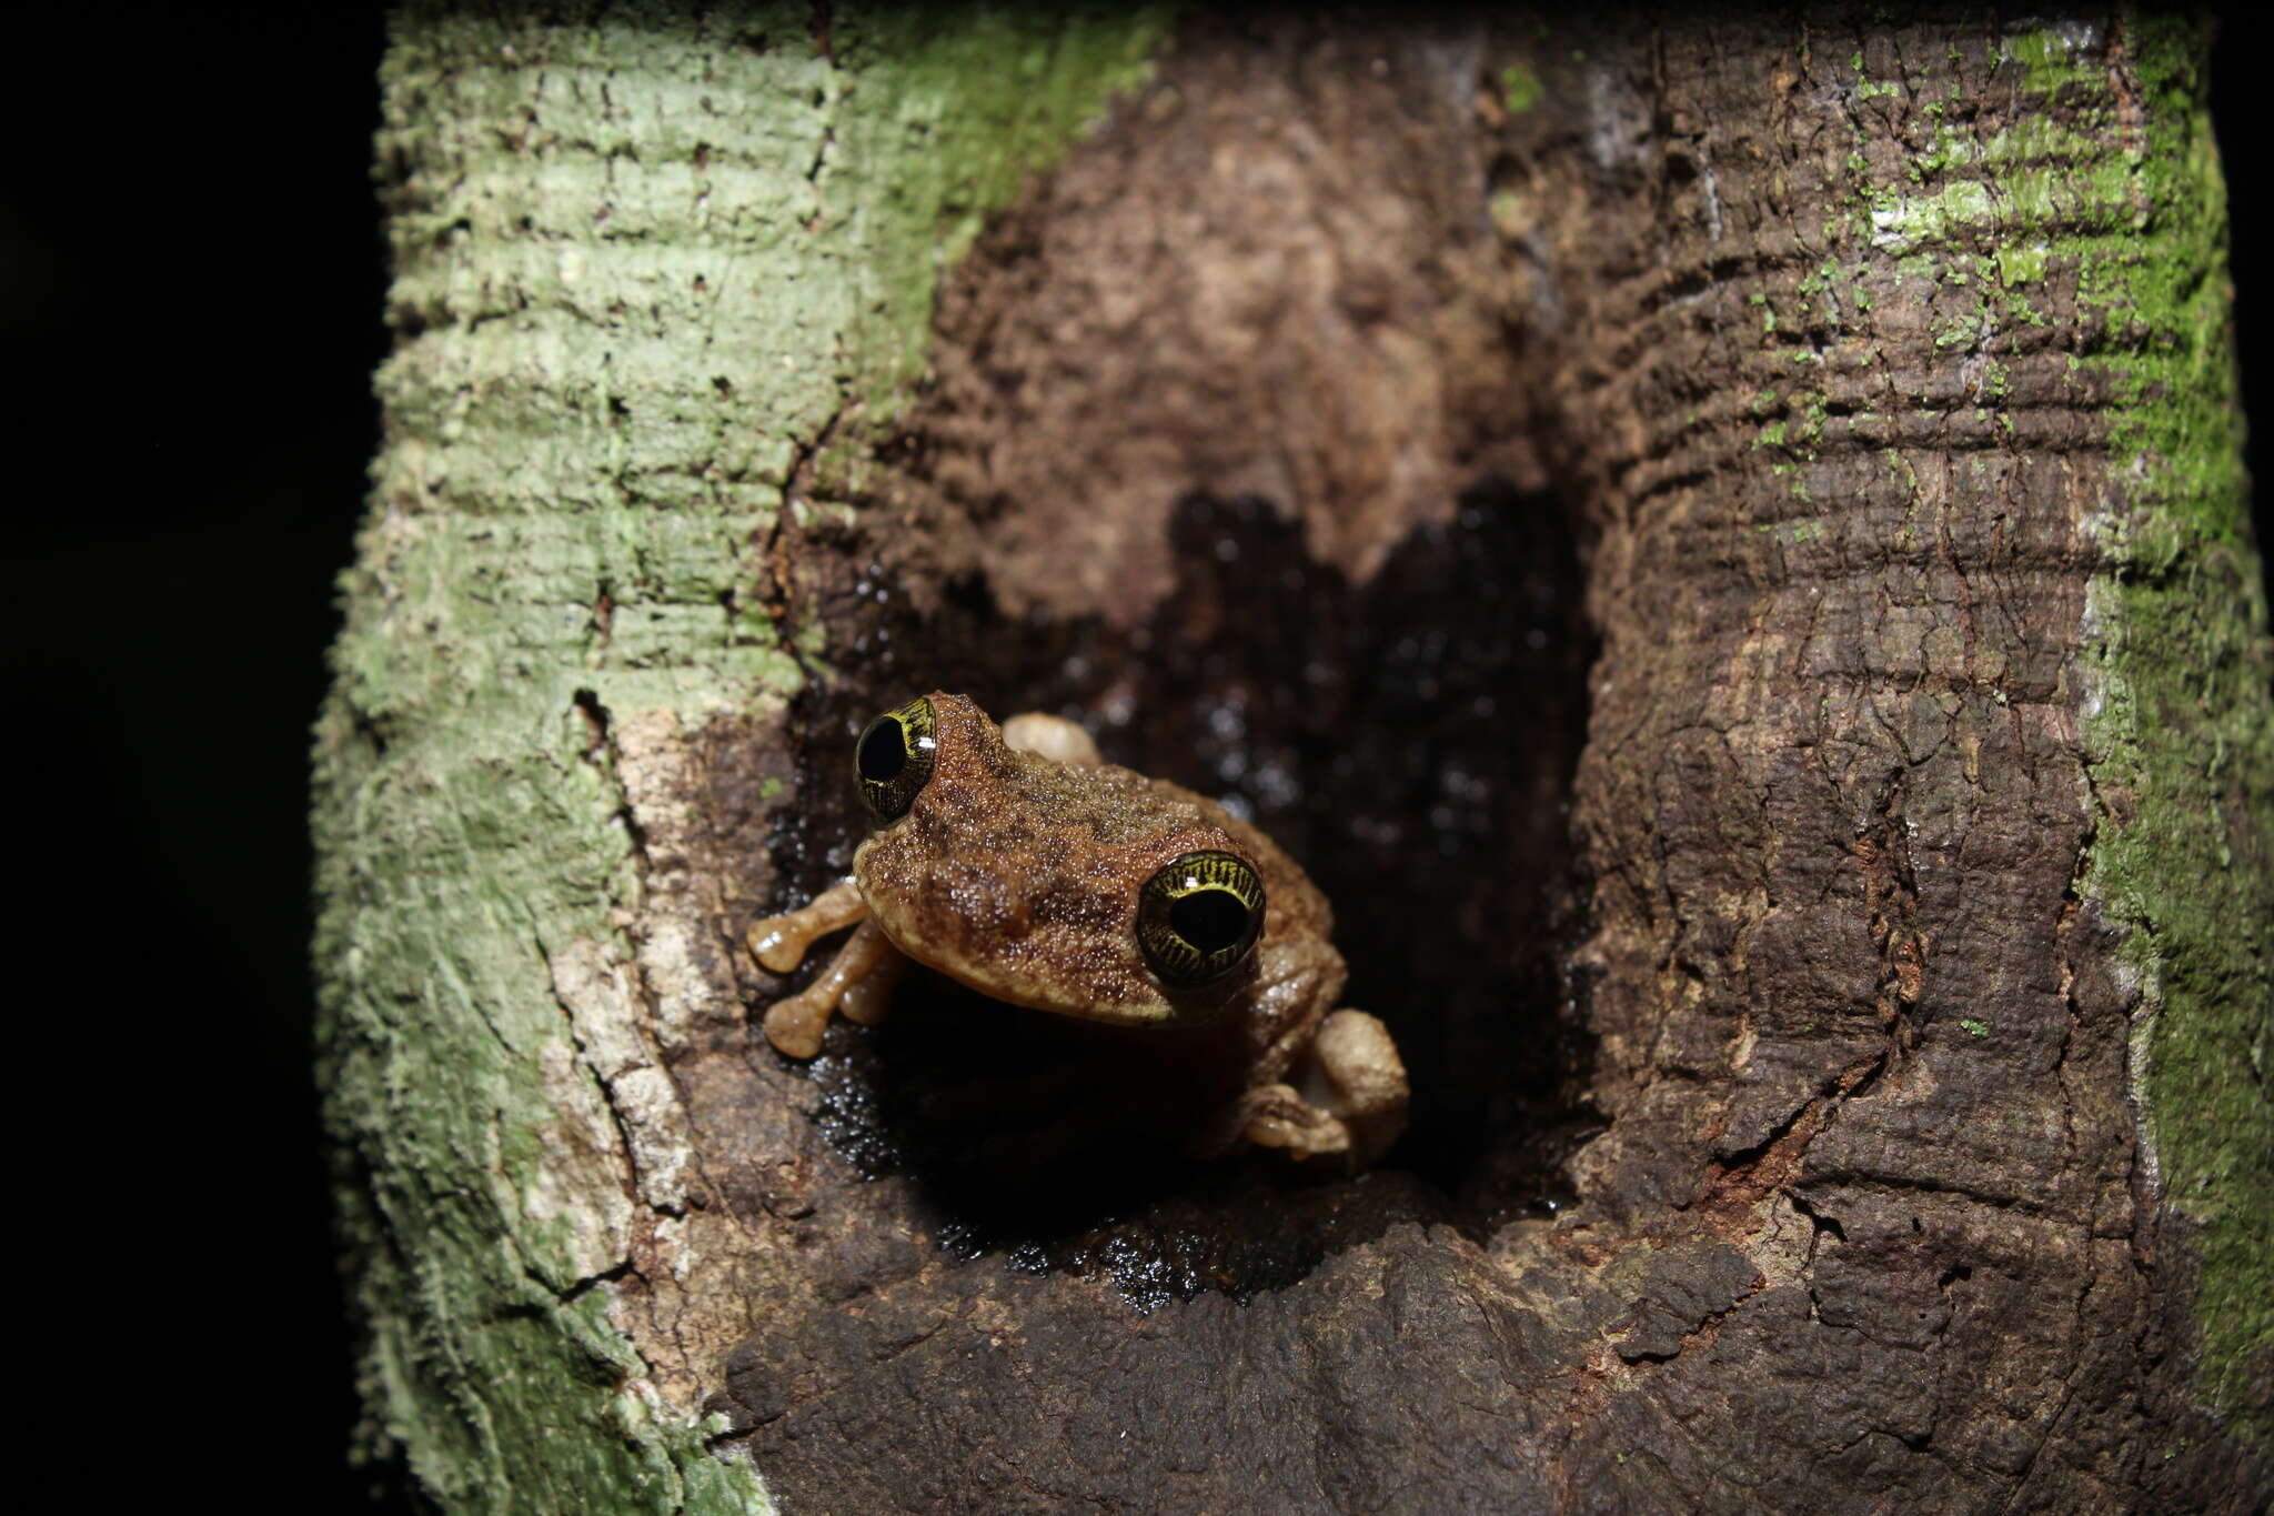
<svg viewBox="0 0 2274 1516">
<path fill-rule="evenodd" d="M 2072 48 L 1194 23 L 982 236 L 866 534 L 775 543 L 862 675 L 766 871 L 841 866 L 903 691 L 1080 714 L 1312 868 L 1417 1125 L 1012 1180 L 930 1098 L 1082 1055 L 921 989 L 684 1064 L 796 1275 L 712 1402 L 789 1509 L 2265 1500 L 2078 889 L 2072 357 L 2131 336 L 2060 259 L 1985 289 L 2012 227 L 1853 211 L 1942 134 L 2119 152 L 2126 34 Z"/>
</svg>

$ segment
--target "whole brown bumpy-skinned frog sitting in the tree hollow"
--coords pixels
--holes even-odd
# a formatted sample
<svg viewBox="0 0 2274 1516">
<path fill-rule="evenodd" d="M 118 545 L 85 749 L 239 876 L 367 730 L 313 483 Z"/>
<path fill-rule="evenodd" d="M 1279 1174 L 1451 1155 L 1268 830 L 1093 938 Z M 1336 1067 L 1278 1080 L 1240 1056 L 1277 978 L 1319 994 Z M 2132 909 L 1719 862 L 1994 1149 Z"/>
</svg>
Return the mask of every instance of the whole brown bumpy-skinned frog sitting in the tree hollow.
<svg viewBox="0 0 2274 1516">
<path fill-rule="evenodd" d="M 1333 909 L 1260 827 L 1180 784 L 1103 761 L 1089 732 L 1023 714 L 1001 727 L 932 691 L 862 727 L 853 780 L 871 832 L 850 877 L 750 925 L 753 957 L 830 964 L 762 1018 L 789 1059 L 830 1016 L 878 1025 L 912 964 L 985 1000 L 1167 1048 L 1144 1064 L 1205 1089 L 1182 1148 L 1378 1161 L 1410 1089 L 1380 1018 L 1344 1007 Z M 1182 1068 L 1207 1066 L 1212 1082 Z M 1148 1075 L 1153 1077 L 1153 1075 Z"/>
</svg>

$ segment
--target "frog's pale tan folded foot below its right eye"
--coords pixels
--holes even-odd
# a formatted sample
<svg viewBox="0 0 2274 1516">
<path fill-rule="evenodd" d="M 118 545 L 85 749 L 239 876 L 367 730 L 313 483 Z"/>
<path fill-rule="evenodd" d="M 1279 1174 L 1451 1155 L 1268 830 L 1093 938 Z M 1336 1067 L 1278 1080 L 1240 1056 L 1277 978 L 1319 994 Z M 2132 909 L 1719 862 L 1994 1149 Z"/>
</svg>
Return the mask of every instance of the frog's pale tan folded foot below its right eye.
<svg viewBox="0 0 2274 1516">
<path fill-rule="evenodd" d="M 1364 1011 L 1335 1011 L 1296 1057 L 1294 1084 L 1251 1089 L 1244 1136 L 1289 1155 L 1346 1155 L 1371 1164 L 1405 1130 L 1405 1064 L 1389 1030 Z"/>
</svg>

